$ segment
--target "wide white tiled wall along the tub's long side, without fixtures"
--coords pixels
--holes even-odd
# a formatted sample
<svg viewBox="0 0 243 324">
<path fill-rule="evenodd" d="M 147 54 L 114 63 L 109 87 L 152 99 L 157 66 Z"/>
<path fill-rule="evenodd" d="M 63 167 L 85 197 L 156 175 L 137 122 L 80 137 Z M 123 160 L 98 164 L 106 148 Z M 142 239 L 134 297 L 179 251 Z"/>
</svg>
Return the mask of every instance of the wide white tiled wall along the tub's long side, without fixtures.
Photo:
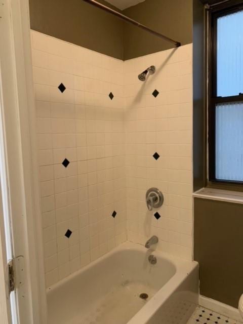
<svg viewBox="0 0 243 324">
<path fill-rule="evenodd" d="M 35 31 L 32 51 L 49 287 L 127 239 L 124 64 Z"/>
</svg>

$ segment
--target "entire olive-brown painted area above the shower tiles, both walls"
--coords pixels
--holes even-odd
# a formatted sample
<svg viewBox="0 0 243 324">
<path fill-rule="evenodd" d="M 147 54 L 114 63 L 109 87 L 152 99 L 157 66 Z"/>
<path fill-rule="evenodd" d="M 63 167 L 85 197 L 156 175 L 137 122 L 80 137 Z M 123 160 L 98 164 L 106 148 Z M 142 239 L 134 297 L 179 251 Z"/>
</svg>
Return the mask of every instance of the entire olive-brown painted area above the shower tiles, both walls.
<svg viewBox="0 0 243 324">
<path fill-rule="evenodd" d="M 29 4 L 32 29 L 118 59 L 173 48 L 82 0 L 29 0 Z M 182 45 L 192 42 L 192 0 L 146 0 L 123 13 Z"/>
</svg>

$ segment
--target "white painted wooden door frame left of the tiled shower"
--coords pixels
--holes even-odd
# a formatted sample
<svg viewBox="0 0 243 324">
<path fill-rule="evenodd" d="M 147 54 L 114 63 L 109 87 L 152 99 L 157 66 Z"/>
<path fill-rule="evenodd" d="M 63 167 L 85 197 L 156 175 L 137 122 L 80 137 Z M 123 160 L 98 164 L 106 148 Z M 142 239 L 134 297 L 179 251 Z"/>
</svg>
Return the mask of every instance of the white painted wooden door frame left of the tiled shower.
<svg viewBox="0 0 243 324">
<path fill-rule="evenodd" d="M 14 257 L 24 256 L 23 283 L 16 290 L 19 324 L 46 324 L 28 0 L 1 1 L 0 17 L 1 114 L 9 225 Z"/>
</svg>

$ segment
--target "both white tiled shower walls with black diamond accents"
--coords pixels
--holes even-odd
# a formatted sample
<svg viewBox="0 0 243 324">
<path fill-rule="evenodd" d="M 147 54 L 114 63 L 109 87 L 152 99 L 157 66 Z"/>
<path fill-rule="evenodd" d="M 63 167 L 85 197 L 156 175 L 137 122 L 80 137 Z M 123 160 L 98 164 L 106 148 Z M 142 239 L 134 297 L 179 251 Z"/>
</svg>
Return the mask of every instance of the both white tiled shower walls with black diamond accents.
<svg viewBox="0 0 243 324">
<path fill-rule="evenodd" d="M 157 234 L 159 249 L 190 259 L 191 45 L 123 62 L 32 31 L 32 56 L 47 287 L 127 235 Z M 145 204 L 152 186 L 165 195 L 158 220 Z"/>
</svg>

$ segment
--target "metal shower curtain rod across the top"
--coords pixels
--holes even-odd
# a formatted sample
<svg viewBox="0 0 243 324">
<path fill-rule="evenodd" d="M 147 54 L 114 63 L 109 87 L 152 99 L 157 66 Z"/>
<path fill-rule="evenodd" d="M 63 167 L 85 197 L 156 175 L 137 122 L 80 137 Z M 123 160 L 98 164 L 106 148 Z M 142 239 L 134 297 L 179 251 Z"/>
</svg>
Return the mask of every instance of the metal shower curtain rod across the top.
<svg viewBox="0 0 243 324">
<path fill-rule="evenodd" d="M 155 36 L 157 36 L 159 38 L 165 39 L 165 41 L 173 43 L 175 45 L 175 47 L 181 46 L 180 42 L 176 42 L 176 41 L 174 41 L 174 39 L 171 39 L 171 38 L 169 38 L 169 37 L 167 37 L 167 36 L 165 36 L 163 34 L 160 34 L 159 32 L 154 31 L 154 30 L 146 27 L 145 25 L 140 24 L 136 20 L 133 20 L 133 19 L 131 19 L 131 18 L 129 18 L 129 17 L 123 15 L 123 14 L 120 14 L 119 12 L 117 12 L 117 11 L 107 7 L 107 6 L 104 6 L 104 5 L 100 4 L 99 2 L 97 2 L 95 0 L 83 0 L 83 1 L 87 2 L 90 5 L 98 7 L 98 8 L 100 8 L 100 9 L 102 9 L 102 10 L 104 10 L 104 11 L 106 11 L 106 12 L 108 12 L 108 13 L 110 13 L 110 14 L 118 17 L 118 18 L 120 18 L 120 19 L 123 19 L 123 20 L 125 20 L 125 21 L 127 21 L 127 22 L 129 22 L 129 23 L 143 29 L 143 30 L 146 30 L 146 31 L 150 32 L 151 34 L 153 34 L 153 35 L 155 35 Z"/>
</svg>

